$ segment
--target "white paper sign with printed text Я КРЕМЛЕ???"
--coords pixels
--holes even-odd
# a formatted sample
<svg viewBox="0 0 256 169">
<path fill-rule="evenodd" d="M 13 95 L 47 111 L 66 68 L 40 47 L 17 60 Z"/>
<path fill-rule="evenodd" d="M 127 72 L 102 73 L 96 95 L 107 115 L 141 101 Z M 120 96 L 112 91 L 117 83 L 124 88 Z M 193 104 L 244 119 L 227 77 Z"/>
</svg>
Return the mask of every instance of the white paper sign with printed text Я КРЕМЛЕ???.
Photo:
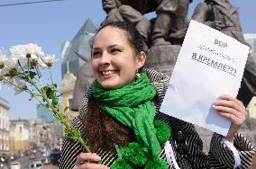
<svg viewBox="0 0 256 169">
<path fill-rule="evenodd" d="M 160 111 L 226 136 L 231 122 L 212 105 L 237 95 L 248 54 L 238 40 L 190 21 Z"/>
</svg>

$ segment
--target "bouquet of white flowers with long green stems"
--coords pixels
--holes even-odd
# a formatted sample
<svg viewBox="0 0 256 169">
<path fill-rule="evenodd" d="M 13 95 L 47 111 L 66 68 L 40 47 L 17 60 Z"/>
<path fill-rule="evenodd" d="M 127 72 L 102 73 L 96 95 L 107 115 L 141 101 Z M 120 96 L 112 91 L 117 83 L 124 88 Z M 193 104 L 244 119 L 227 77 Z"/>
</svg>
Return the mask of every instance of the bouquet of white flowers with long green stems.
<svg viewBox="0 0 256 169">
<path fill-rule="evenodd" d="M 67 115 L 60 112 L 58 85 L 50 72 L 50 67 L 58 60 L 55 55 L 44 54 L 41 47 L 32 43 L 13 46 L 10 51 L 12 56 L 7 58 L 5 50 L 0 49 L 0 82 L 13 86 L 14 94 L 29 93 L 30 100 L 36 99 L 65 126 L 69 140 L 78 141 L 86 152 L 90 152 L 80 131 L 70 125 Z M 50 74 L 46 83 L 41 80 L 42 69 Z"/>
</svg>

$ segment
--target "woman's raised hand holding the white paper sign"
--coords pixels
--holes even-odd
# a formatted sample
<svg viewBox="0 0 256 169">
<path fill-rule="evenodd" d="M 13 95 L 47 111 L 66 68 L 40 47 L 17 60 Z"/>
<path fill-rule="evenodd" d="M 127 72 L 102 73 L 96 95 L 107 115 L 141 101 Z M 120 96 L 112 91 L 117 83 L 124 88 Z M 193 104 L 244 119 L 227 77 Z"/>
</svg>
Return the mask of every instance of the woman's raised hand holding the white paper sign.
<svg viewBox="0 0 256 169">
<path fill-rule="evenodd" d="M 241 128 L 245 120 L 245 107 L 235 97 L 224 94 L 220 100 L 214 102 L 213 108 L 218 114 L 231 120 L 231 126 L 225 138 L 233 143 L 235 133 Z"/>
</svg>

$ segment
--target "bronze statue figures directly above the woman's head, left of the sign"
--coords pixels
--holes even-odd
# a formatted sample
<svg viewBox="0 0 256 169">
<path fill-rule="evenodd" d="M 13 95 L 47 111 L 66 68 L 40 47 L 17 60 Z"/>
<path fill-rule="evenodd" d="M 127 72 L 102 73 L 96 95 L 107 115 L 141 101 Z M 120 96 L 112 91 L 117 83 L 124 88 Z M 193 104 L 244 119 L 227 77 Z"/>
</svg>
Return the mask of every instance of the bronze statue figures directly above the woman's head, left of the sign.
<svg viewBox="0 0 256 169">
<path fill-rule="evenodd" d="M 191 1 L 103 0 L 103 9 L 107 13 L 104 22 L 133 22 L 136 24 L 137 30 L 142 34 L 145 43 L 150 47 L 151 45 L 169 45 L 174 40 L 178 40 L 178 42 L 173 43 L 181 44 L 187 30 L 187 8 L 189 2 Z M 153 26 L 143 16 L 145 13 L 151 12 L 156 12 L 157 14 L 157 17 L 151 21 L 154 22 Z"/>
</svg>

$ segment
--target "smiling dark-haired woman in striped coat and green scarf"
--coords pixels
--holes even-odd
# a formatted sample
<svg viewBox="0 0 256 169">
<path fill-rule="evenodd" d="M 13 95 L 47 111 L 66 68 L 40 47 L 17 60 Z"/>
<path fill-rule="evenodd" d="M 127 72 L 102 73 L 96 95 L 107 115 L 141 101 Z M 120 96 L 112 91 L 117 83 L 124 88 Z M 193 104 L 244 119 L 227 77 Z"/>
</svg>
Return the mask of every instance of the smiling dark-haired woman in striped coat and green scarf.
<svg viewBox="0 0 256 169">
<path fill-rule="evenodd" d="M 237 133 L 246 115 L 241 102 L 230 95 L 214 102 L 216 112 L 232 125 L 226 137 L 213 135 L 206 155 L 192 124 L 159 111 L 169 76 L 142 68 L 143 45 L 129 22 L 109 22 L 96 32 L 91 62 L 96 81 L 73 120 L 95 153 L 85 153 L 78 142 L 65 138 L 59 168 L 249 167 L 255 149 Z"/>
</svg>

